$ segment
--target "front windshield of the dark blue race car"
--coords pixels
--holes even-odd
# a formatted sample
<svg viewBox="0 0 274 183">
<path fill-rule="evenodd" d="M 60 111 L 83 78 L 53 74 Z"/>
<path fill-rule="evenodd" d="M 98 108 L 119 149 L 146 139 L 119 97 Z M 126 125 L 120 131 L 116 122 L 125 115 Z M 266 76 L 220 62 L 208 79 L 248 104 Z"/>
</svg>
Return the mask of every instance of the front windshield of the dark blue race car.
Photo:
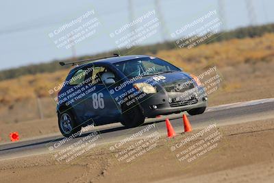
<svg viewBox="0 0 274 183">
<path fill-rule="evenodd" d="M 173 71 L 181 71 L 176 66 L 159 58 L 140 58 L 117 62 L 115 66 L 123 72 L 127 77 L 155 75 L 160 73 L 169 73 Z"/>
</svg>

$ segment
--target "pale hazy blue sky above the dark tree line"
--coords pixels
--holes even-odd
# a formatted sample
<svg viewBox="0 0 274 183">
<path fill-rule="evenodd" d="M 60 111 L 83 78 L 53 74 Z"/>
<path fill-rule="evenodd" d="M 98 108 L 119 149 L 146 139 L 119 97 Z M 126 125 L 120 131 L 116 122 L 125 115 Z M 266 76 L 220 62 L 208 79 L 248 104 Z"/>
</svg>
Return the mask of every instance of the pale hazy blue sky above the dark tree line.
<svg viewBox="0 0 274 183">
<path fill-rule="evenodd" d="M 171 40 L 170 33 L 175 32 L 185 23 L 195 21 L 197 17 L 210 10 L 219 10 L 218 2 L 218 0 L 159 0 L 160 16 L 158 14 L 158 18 L 160 17 L 162 26 L 157 28 L 157 34 L 142 44 L 161 42 L 163 39 Z M 272 23 L 274 21 L 273 7 L 274 1 L 253 0 L 255 12 L 253 21 L 258 25 Z M 64 47 L 56 47 L 55 38 L 50 38 L 49 34 L 65 23 L 70 23 L 92 10 L 95 10 L 95 15 L 90 15 L 90 17 L 97 17 L 100 25 L 95 36 L 90 36 L 75 45 L 76 56 L 117 49 L 115 39 L 110 38 L 110 33 L 130 20 L 158 9 L 155 8 L 154 0 L 132 0 L 131 6 L 129 0 L 1 1 L 0 69 L 71 57 L 73 51 Z M 129 13 L 129 10 L 132 12 Z M 223 1 L 222 10 L 225 16 L 221 17 L 225 18 L 223 22 L 225 22 L 226 29 L 249 25 L 245 0 Z M 252 10 L 252 7 L 249 7 L 249 10 Z M 160 34 L 160 29 L 165 29 L 164 36 Z"/>
</svg>

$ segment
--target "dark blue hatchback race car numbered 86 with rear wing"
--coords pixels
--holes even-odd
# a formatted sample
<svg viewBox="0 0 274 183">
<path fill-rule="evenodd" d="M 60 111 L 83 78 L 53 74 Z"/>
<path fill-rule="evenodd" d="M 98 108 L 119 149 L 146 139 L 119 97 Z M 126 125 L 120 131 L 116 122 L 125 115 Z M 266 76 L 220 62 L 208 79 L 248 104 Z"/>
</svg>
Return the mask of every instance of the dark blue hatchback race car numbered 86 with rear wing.
<svg viewBox="0 0 274 183">
<path fill-rule="evenodd" d="M 160 58 L 114 54 L 78 62 L 87 63 L 70 71 L 58 93 L 58 123 L 64 136 L 90 124 L 135 127 L 146 117 L 206 110 L 208 98 L 199 79 Z"/>
</svg>

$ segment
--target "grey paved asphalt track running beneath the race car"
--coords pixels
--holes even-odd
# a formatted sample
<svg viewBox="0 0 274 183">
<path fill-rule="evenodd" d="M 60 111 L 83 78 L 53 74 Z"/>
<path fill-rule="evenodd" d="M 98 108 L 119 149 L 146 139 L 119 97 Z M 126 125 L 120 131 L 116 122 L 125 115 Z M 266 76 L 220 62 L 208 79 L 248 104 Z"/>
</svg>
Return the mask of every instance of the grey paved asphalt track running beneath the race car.
<svg viewBox="0 0 274 183">
<path fill-rule="evenodd" d="M 165 118 L 166 117 L 160 119 L 149 119 L 144 125 L 134 128 L 123 127 L 120 123 L 95 127 L 94 130 L 82 134 L 81 137 L 72 139 L 61 147 L 68 147 L 94 131 L 97 131 L 100 134 L 99 139 L 96 141 L 97 145 L 119 142 L 154 122 L 155 128 L 153 128 L 153 130 L 157 130 L 161 136 L 166 136 L 166 125 L 164 123 Z M 204 114 L 188 116 L 193 129 L 206 127 L 210 123 L 216 123 L 216 125 L 219 126 L 271 118 L 274 118 L 274 99 L 260 99 L 256 101 L 215 106 L 208 108 Z M 176 133 L 183 132 L 184 127 L 182 125 L 182 114 L 170 115 L 169 119 L 171 119 L 171 124 Z M 60 151 L 61 149 L 59 147 L 53 148 L 53 150 L 49 150 L 49 147 L 54 147 L 54 144 L 60 142 L 63 138 L 64 137 L 61 135 L 51 135 L 45 138 L 2 144 L 0 145 L 0 160 Z"/>
</svg>

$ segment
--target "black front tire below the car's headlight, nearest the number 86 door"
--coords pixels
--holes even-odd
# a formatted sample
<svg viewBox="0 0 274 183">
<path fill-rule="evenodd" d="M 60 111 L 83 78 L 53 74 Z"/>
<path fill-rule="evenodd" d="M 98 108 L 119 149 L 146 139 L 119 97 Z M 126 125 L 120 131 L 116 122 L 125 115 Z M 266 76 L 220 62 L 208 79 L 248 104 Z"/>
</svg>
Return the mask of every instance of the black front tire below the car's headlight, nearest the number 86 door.
<svg viewBox="0 0 274 183">
<path fill-rule="evenodd" d="M 145 116 L 138 106 L 134 106 L 133 108 L 122 106 L 122 111 L 123 121 L 121 121 L 121 124 L 125 127 L 137 127 L 145 122 Z"/>
</svg>

